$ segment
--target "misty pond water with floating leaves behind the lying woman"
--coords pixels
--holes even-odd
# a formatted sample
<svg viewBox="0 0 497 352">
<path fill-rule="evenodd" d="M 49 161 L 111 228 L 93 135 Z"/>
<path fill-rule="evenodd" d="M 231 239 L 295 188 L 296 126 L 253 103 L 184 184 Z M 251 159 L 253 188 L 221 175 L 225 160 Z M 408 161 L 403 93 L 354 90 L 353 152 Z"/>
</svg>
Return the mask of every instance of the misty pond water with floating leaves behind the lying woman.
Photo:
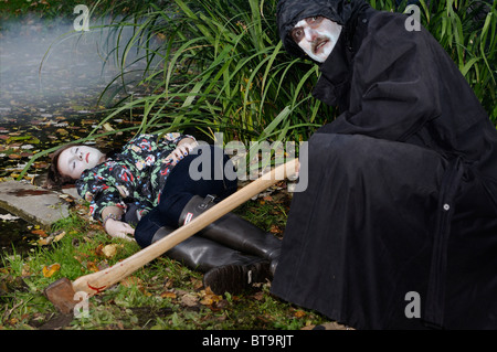
<svg viewBox="0 0 497 352">
<path fill-rule="evenodd" d="M 72 32 L 72 33 L 71 33 Z M 125 43 L 131 31 L 123 31 Z M 137 83 L 144 63 L 126 66 L 124 83 L 114 82 L 121 67 L 108 56 L 117 36 L 95 30 L 74 32 L 72 20 L 46 23 L 33 18 L 2 23 L 0 31 L 0 181 L 15 178 L 36 152 L 87 134 L 105 116 L 101 93 L 110 84 L 113 104 L 124 94 L 140 96 Z M 141 55 L 131 51 L 128 62 Z M 124 88 L 126 92 L 124 92 Z M 112 127 L 136 124 L 129 116 L 109 121 Z M 114 143 L 115 137 L 101 140 Z M 28 178 L 40 180 L 47 158 L 30 168 Z M 0 252 L 30 248 L 32 224 L 0 210 Z"/>
</svg>

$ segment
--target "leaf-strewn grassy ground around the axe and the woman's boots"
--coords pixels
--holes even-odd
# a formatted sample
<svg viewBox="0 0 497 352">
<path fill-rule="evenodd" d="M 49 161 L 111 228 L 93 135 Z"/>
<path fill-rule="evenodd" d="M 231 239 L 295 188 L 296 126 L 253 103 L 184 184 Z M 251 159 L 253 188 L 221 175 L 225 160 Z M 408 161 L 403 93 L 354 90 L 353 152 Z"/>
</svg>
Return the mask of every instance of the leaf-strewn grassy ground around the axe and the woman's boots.
<svg viewBox="0 0 497 352">
<path fill-rule="evenodd" d="M 289 198 L 284 191 L 236 210 L 281 236 Z M 269 282 L 239 296 L 216 296 L 202 286 L 202 274 L 159 257 L 120 284 L 89 299 L 87 317 L 64 317 L 43 296 L 55 280 L 101 270 L 133 255 L 135 243 L 113 239 L 77 204 L 73 215 L 40 239 L 28 254 L 2 258 L 0 330 L 68 329 L 308 329 L 325 317 L 288 305 L 269 294 Z M 89 224 L 89 225 L 88 225 Z"/>
</svg>

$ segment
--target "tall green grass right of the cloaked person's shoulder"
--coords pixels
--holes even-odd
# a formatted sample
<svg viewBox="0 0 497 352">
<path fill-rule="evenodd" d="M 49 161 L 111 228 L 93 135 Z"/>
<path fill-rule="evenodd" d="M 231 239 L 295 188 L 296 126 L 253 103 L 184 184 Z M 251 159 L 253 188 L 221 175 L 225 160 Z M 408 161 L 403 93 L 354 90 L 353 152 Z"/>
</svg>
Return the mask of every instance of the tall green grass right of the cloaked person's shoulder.
<svg viewBox="0 0 497 352">
<path fill-rule="evenodd" d="M 490 119 L 497 124 L 496 2 L 422 0 L 421 6 L 423 25 L 451 54 Z"/>
</svg>

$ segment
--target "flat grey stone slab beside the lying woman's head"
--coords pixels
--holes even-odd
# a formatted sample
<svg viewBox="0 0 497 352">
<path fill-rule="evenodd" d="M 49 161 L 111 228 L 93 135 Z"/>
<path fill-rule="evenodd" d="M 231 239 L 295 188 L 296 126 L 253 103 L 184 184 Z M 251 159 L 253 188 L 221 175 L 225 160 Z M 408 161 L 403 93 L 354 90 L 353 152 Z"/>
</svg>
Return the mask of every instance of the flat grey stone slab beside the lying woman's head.
<svg viewBox="0 0 497 352">
<path fill-rule="evenodd" d="M 67 193 L 71 194 L 72 191 Z M 60 196 L 61 194 L 24 181 L 0 182 L 0 207 L 50 230 L 53 223 L 70 214 L 68 204 Z"/>
</svg>

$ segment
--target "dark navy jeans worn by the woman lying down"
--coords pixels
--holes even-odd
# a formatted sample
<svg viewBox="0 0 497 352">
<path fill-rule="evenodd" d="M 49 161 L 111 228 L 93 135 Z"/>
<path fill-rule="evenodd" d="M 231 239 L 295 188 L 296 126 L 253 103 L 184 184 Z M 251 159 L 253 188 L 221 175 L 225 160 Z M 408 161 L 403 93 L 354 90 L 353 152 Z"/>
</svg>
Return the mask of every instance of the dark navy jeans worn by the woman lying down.
<svg viewBox="0 0 497 352">
<path fill-rule="evenodd" d="M 216 147 L 197 147 L 171 170 L 159 204 L 138 222 L 136 242 L 146 247 L 160 227 L 178 227 L 180 214 L 193 195 L 211 194 L 224 199 L 234 193 L 236 186 L 236 173 L 230 158 Z"/>
</svg>

